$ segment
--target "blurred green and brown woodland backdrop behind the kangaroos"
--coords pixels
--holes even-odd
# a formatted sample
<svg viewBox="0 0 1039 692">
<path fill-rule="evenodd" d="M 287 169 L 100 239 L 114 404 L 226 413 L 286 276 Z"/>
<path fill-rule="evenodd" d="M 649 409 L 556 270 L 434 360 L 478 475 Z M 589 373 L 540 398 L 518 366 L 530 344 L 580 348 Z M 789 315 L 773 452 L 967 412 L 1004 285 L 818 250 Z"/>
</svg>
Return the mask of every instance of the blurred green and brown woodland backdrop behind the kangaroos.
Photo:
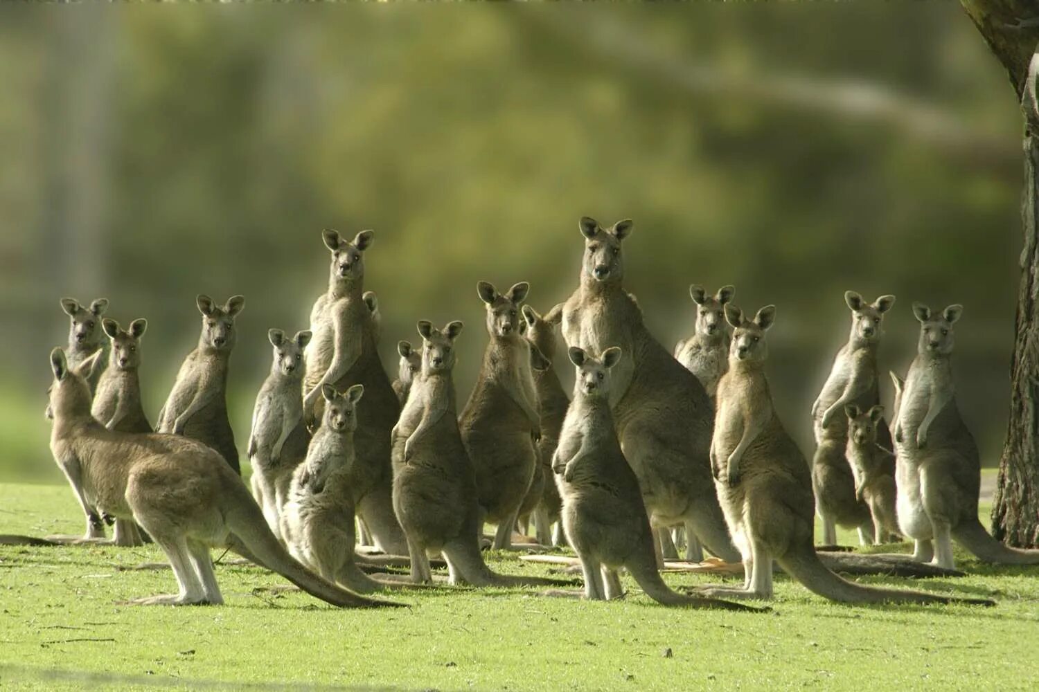
<svg viewBox="0 0 1039 692">
<path fill-rule="evenodd" d="M 843 293 L 961 302 L 959 400 L 995 465 L 1020 251 L 1020 116 L 956 3 L 820 6 L 0 8 L 0 479 L 60 478 L 43 417 L 58 298 L 149 319 L 155 418 L 199 327 L 246 296 L 230 399 L 244 449 L 269 363 L 323 290 L 320 230 L 374 228 L 383 362 L 475 284 L 577 284 L 577 220 L 631 217 L 627 284 L 667 348 L 690 282 L 774 302 L 769 371 L 808 409 L 849 327 Z M 565 360 L 557 356 L 562 370 Z M 568 372 L 567 372 L 568 375 Z M 889 383 L 881 383 L 889 399 Z"/>
</svg>

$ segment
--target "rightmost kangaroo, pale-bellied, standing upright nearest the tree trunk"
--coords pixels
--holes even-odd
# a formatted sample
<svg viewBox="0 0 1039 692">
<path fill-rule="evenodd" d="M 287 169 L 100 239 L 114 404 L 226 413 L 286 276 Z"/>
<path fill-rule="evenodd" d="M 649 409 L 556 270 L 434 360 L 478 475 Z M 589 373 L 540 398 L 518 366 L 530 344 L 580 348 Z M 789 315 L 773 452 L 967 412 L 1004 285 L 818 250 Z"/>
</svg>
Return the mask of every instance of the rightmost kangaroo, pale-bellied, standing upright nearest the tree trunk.
<svg viewBox="0 0 1039 692">
<path fill-rule="evenodd" d="M 981 461 L 953 383 L 953 325 L 963 306 L 940 313 L 922 303 L 912 308 L 920 340 L 899 395 L 895 442 L 899 526 L 915 542 L 913 556 L 926 561 L 933 553 L 934 564 L 952 569 L 955 537 L 985 562 L 1039 564 L 1039 550 L 1005 546 L 978 521 Z"/>
</svg>

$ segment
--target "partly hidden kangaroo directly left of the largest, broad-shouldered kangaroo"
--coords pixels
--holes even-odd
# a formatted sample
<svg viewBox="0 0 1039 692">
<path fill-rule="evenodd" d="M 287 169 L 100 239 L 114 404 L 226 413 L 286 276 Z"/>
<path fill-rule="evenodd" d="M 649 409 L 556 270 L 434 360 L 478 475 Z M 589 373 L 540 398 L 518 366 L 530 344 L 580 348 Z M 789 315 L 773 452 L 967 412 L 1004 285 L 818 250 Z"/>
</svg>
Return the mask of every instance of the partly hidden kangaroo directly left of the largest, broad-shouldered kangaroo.
<svg viewBox="0 0 1039 692">
<path fill-rule="evenodd" d="M 544 477 L 541 501 L 534 509 L 534 528 L 537 542 L 542 546 L 561 546 L 564 536 L 559 513 L 563 504 L 552 471 L 552 458 L 556 453 L 559 433 L 563 427 L 563 418 L 566 417 L 570 399 L 559 382 L 559 375 L 551 361 L 556 353 L 555 327 L 562 322 L 563 313 L 561 309 L 552 309 L 541 316 L 530 305 L 524 305 L 522 311 L 524 324 L 527 325 L 525 334 L 527 339 L 550 361 L 549 367 L 535 368 L 533 371 L 541 431 L 541 439 L 537 441 L 537 454 Z M 555 530 L 550 530 L 553 525 Z"/>
</svg>

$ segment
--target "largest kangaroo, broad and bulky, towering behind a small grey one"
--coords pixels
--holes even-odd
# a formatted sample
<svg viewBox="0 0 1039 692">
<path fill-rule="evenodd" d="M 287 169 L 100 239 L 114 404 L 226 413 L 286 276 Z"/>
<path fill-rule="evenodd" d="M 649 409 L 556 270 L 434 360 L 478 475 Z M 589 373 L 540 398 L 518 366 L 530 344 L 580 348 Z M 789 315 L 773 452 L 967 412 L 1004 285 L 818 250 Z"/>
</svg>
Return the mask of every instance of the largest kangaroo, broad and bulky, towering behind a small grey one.
<svg viewBox="0 0 1039 692">
<path fill-rule="evenodd" d="M 712 406 L 696 377 L 654 338 L 621 286 L 621 243 L 631 220 L 603 228 L 581 219 L 585 251 L 581 283 L 563 305 L 566 343 L 602 353 L 618 345 L 631 354 L 617 364 L 610 406 L 650 523 L 659 533 L 684 525 L 688 537 L 722 559 L 736 561 L 725 519 L 711 480 Z"/>
</svg>

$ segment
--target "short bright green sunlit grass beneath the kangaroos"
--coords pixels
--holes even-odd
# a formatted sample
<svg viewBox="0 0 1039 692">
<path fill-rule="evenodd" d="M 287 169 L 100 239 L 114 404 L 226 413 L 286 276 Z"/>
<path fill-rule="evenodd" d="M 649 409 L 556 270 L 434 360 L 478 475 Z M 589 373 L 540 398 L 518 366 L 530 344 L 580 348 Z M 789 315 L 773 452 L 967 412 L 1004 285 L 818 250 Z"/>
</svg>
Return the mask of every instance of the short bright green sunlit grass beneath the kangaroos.
<svg viewBox="0 0 1039 692">
<path fill-rule="evenodd" d="M 81 530 L 68 488 L 0 485 L 0 532 Z M 151 547 L 0 546 L 0 689 L 869 690 L 879 677 L 887 689 L 1008 690 L 1039 680 L 1039 568 L 963 554 L 962 579 L 862 581 L 991 596 L 995 608 L 841 606 L 777 577 L 767 614 L 669 609 L 630 580 L 613 603 L 436 590 L 395 597 L 407 609 L 353 611 L 258 591 L 284 581 L 236 565 L 217 568 L 223 607 L 115 605 L 176 590 L 168 570 L 118 570 L 156 559 Z M 490 562 L 549 574 L 513 555 Z"/>
</svg>

